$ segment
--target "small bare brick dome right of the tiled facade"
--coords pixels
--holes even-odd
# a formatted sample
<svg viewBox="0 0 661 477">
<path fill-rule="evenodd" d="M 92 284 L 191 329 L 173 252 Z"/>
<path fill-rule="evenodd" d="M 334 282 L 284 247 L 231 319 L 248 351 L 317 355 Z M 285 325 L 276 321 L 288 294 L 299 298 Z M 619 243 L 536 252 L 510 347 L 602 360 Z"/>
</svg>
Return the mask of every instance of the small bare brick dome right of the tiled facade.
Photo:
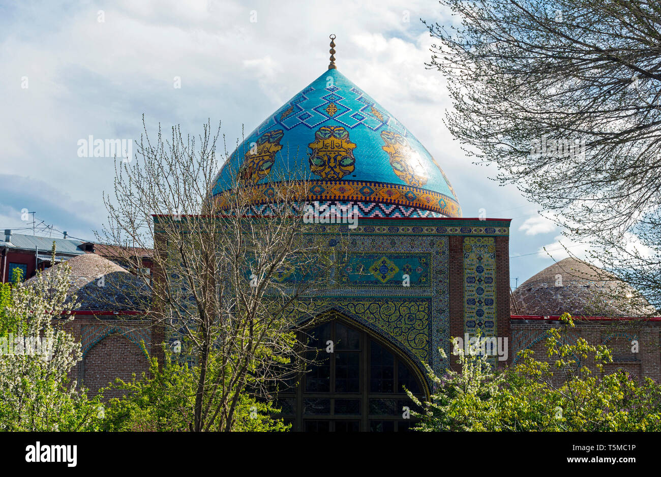
<svg viewBox="0 0 661 477">
<path fill-rule="evenodd" d="M 609 279 L 611 277 L 611 279 Z M 647 316 L 655 310 L 629 285 L 576 258 L 565 258 L 527 279 L 512 293 L 512 314 Z"/>
</svg>

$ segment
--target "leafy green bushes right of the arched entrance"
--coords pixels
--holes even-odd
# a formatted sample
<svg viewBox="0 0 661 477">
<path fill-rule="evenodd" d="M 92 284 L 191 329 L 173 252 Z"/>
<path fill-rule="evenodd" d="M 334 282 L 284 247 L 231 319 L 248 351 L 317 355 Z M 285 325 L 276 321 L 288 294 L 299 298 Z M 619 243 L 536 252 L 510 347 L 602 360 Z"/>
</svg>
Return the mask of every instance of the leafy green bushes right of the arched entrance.
<svg viewBox="0 0 661 477">
<path fill-rule="evenodd" d="M 566 326 L 574 326 L 563 315 Z M 634 381 L 623 371 L 597 377 L 611 363 L 609 350 L 579 338 L 563 342 L 561 330 L 547 332 L 549 361 L 520 351 L 520 361 L 494 372 L 486 356 L 457 349 L 461 372 L 448 370 L 434 383 L 420 431 L 659 431 L 661 386 L 651 379 Z M 456 349 L 456 348 L 455 348 Z"/>
</svg>

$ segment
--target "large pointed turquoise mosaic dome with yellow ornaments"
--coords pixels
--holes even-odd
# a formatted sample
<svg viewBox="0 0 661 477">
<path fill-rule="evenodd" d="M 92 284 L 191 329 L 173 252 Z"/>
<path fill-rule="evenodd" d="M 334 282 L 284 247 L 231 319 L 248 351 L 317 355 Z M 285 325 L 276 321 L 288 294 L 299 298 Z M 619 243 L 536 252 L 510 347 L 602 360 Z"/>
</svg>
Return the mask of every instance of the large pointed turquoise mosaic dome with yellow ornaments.
<svg viewBox="0 0 661 477">
<path fill-rule="evenodd" d="M 215 178 L 238 174 L 254 213 L 270 207 L 283 174 L 305 176 L 307 199 L 358 207 L 362 217 L 461 217 L 446 174 L 407 128 L 337 69 L 329 69 L 260 124 Z"/>
</svg>

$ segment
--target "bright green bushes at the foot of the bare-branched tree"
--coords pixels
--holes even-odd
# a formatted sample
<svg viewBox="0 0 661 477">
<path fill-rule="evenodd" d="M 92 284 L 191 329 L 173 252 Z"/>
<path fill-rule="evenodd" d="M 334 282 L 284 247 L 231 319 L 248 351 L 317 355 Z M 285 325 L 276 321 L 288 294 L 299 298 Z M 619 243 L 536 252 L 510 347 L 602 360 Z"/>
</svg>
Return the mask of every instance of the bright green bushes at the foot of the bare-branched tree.
<svg viewBox="0 0 661 477">
<path fill-rule="evenodd" d="M 167 352 L 166 352 L 167 356 Z M 106 431 L 190 431 L 194 425 L 199 369 L 171 359 L 159 366 L 149 358 L 149 373 L 135 374 L 131 381 L 117 379 L 106 390 L 125 391 L 122 398 L 108 401 L 102 429 Z M 213 409 L 213 406 L 210 406 Z M 246 393 L 237 396 L 232 431 L 286 431 L 288 425 L 271 416 L 278 410 Z M 219 416 L 210 419 L 208 430 L 224 425 Z"/>
</svg>

